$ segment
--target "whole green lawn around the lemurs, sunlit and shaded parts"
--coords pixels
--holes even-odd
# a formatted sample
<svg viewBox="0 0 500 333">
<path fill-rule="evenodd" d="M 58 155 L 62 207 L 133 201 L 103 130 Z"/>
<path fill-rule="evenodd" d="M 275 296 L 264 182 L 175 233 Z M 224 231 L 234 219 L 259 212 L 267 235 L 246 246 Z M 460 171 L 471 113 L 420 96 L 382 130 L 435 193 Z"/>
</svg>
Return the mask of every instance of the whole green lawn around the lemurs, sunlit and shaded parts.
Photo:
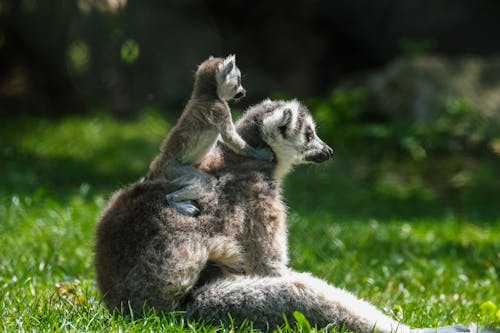
<svg viewBox="0 0 500 333">
<path fill-rule="evenodd" d="M 127 123 L 102 115 L 4 119 L 0 331 L 220 330 L 182 314 L 111 314 L 94 283 L 96 217 L 112 191 L 145 172 L 168 127 L 155 113 Z M 474 202 L 458 209 L 377 192 L 350 163 L 336 156 L 287 180 L 292 266 L 414 326 L 498 326 L 500 208 L 482 214 Z"/>
</svg>

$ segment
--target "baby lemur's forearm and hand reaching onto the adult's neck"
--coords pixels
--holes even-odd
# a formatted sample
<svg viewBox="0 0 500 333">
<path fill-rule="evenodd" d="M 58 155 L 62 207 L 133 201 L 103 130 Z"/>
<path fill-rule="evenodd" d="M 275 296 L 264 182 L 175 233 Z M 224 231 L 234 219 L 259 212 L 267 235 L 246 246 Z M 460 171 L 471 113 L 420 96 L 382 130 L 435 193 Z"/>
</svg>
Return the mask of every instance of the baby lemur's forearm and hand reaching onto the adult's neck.
<svg viewBox="0 0 500 333">
<path fill-rule="evenodd" d="M 274 159 L 274 154 L 269 149 L 256 149 L 243 140 L 238 132 L 236 132 L 231 114 L 226 119 L 221 120 L 221 123 L 217 124 L 217 130 L 222 136 L 224 143 L 235 153 L 268 162 Z"/>
</svg>

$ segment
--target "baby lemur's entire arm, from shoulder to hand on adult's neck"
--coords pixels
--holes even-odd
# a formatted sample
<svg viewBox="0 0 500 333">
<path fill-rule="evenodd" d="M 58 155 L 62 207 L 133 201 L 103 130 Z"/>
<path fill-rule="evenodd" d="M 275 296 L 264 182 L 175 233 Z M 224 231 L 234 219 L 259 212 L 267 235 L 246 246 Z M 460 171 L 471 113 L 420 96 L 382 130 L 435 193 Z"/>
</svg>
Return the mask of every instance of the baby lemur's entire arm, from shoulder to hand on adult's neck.
<svg viewBox="0 0 500 333">
<path fill-rule="evenodd" d="M 213 125 L 217 128 L 224 143 L 231 148 L 232 151 L 239 155 L 248 156 L 265 161 L 272 161 L 274 158 L 273 153 L 266 148 L 256 149 L 249 145 L 243 138 L 236 132 L 233 119 L 229 107 L 222 103 L 214 106 L 212 113 Z"/>
</svg>

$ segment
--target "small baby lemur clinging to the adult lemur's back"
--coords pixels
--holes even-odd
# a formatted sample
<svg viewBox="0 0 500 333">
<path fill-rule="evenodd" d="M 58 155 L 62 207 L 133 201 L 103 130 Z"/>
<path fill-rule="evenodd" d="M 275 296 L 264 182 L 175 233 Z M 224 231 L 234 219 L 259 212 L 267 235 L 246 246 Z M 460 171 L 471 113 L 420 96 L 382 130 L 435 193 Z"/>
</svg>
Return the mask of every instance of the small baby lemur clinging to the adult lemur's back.
<svg viewBox="0 0 500 333">
<path fill-rule="evenodd" d="M 211 57 L 198 66 L 191 98 L 146 176 L 148 180 L 165 177 L 182 186 L 166 195 L 169 205 L 180 213 L 197 215 L 199 209 L 192 200 L 200 199 L 215 182 L 214 177 L 196 166 L 215 145 L 219 134 L 235 153 L 272 161 L 274 155 L 269 149 L 255 149 L 235 130 L 227 102 L 244 95 L 234 55 L 225 59 Z"/>
</svg>

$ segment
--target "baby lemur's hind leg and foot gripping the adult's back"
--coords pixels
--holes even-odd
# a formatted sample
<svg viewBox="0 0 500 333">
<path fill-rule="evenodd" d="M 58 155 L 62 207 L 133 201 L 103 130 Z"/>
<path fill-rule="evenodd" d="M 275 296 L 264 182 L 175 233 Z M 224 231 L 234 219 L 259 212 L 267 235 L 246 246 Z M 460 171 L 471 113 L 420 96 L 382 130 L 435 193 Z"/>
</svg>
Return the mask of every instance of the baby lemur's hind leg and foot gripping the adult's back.
<svg viewBox="0 0 500 333">
<path fill-rule="evenodd" d="M 202 198 L 214 186 L 216 178 L 179 161 L 169 163 L 164 172 L 172 184 L 182 186 L 179 190 L 165 196 L 168 204 L 181 214 L 198 215 L 200 209 L 193 201 Z"/>
</svg>

